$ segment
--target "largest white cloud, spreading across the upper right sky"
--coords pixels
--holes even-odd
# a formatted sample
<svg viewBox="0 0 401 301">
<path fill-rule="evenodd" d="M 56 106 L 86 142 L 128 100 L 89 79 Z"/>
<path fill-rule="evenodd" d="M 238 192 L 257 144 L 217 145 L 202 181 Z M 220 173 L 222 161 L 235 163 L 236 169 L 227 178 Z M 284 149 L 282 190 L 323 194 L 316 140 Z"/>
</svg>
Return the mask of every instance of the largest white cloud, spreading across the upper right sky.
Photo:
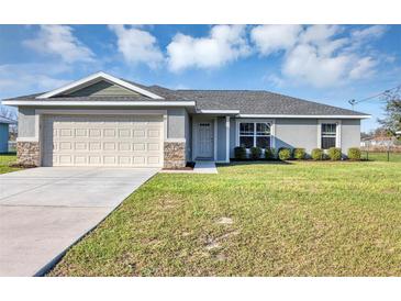
<svg viewBox="0 0 401 301">
<path fill-rule="evenodd" d="M 337 25 L 264 25 L 254 27 L 250 36 L 260 55 L 285 52 L 280 85 L 293 81 L 325 88 L 372 76 L 378 62 L 364 54 L 363 46 L 385 31 L 378 25 L 349 33 Z M 270 81 L 279 82 L 277 77 Z"/>
</svg>

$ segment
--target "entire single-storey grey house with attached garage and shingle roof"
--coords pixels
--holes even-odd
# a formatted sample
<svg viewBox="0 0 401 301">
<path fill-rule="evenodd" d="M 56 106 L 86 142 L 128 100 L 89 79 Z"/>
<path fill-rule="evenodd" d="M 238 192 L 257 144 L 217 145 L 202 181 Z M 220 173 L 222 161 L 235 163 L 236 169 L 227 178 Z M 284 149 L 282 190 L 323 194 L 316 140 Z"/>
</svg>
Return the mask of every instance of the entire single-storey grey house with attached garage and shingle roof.
<svg viewBox="0 0 401 301">
<path fill-rule="evenodd" d="M 267 91 L 170 90 L 104 73 L 3 101 L 19 108 L 18 156 L 41 166 L 230 161 L 234 147 L 359 146 L 364 113 Z"/>
</svg>

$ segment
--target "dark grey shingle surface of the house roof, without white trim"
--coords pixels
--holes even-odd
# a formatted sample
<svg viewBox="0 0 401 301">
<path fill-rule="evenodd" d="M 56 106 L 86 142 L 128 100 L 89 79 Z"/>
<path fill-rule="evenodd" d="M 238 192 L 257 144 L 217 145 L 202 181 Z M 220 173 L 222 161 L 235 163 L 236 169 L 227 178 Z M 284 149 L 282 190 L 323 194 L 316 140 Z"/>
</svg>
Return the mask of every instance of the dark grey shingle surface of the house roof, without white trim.
<svg viewBox="0 0 401 301">
<path fill-rule="evenodd" d="M 241 114 L 367 115 L 337 107 L 307 101 L 268 91 L 252 90 L 172 90 L 125 80 L 164 98 L 163 101 L 196 101 L 198 110 L 240 110 Z M 34 100 L 42 93 L 9 100 Z M 57 101 L 149 101 L 148 97 L 54 97 Z"/>
</svg>

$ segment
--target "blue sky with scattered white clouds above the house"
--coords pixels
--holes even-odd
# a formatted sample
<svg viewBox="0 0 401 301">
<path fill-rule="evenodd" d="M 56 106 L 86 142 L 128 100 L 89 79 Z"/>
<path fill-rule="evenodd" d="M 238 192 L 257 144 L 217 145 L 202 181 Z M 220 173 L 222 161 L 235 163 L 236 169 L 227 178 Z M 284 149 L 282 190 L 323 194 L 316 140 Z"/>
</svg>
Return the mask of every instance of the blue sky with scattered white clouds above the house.
<svg viewBox="0 0 401 301">
<path fill-rule="evenodd" d="M 0 98 L 103 70 L 188 89 L 270 90 L 349 109 L 401 83 L 400 25 L 0 25 Z M 372 114 L 379 100 L 356 110 Z"/>
</svg>

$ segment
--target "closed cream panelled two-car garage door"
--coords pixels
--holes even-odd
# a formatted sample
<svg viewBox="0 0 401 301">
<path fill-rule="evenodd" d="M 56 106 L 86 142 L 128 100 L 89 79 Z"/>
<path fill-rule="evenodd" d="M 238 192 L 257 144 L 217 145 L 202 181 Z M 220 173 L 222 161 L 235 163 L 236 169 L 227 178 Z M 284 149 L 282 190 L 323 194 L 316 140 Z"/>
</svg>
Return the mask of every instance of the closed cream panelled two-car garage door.
<svg viewBox="0 0 401 301">
<path fill-rule="evenodd" d="M 160 167 L 163 116 L 46 115 L 44 166 Z"/>
</svg>

